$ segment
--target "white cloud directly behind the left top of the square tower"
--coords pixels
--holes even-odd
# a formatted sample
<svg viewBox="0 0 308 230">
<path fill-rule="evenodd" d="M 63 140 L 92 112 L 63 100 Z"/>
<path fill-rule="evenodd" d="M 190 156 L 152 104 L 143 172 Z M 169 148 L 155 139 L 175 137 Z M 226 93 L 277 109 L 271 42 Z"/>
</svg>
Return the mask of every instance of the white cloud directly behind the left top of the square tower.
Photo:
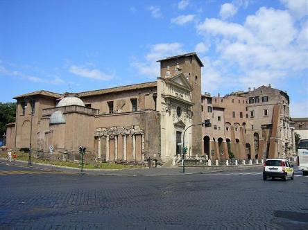
<svg viewBox="0 0 308 230">
<path fill-rule="evenodd" d="M 154 44 L 145 55 L 143 62 L 133 58 L 130 64 L 137 69 L 139 74 L 157 78 L 160 76 L 160 64 L 157 60 L 181 53 L 185 51 L 182 49 L 182 44 L 178 42 Z"/>
</svg>

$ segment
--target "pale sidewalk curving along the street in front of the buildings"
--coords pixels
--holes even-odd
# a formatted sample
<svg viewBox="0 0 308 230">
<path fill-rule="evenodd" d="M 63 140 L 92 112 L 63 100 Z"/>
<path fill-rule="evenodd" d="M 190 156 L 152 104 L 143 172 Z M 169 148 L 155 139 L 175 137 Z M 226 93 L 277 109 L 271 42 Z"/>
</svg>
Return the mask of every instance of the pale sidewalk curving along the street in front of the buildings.
<svg viewBox="0 0 308 230">
<path fill-rule="evenodd" d="M 261 170 L 262 164 L 259 165 L 246 165 L 246 166 L 186 166 L 185 173 L 182 172 L 182 167 L 171 168 L 129 168 L 121 170 L 102 170 L 102 169 L 85 169 L 80 172 L 80 168 L 71 168 L 67 166 L 54 166 L 46 163 L 32 163 L 32 166 L 28 166 L 28 161 L 12 161 L 7 162 L 6 159 L 0 158 L 0 163 L 8 163 L 12 166 L 21 166 L 26 168 L 37 168 L 42 170 L 53 170 L 60 172 L 69 172 L 83 175 L 102 175 L 102 176 L 175 176 L 175 175 L 192 175 L 203 174 L 207 172 L 223 172 L 228 170 L 246 170 L 249 168 L 258 168 Z"/>
</svg>

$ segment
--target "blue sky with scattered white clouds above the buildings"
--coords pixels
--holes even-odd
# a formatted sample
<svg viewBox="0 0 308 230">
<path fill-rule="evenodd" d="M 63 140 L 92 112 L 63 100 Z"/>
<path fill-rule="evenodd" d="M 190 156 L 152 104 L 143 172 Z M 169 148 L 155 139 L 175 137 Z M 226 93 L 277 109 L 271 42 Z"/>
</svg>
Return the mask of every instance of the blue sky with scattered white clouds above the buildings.
<svg viewBox="0 0 308 230">
<path fill-rule="evenodd" d="M 202 91 L 271 84 L 308 117 L 307 0 L 0 0 L 1 102 L 155 81 L 196 52 Z"/>
</svg>

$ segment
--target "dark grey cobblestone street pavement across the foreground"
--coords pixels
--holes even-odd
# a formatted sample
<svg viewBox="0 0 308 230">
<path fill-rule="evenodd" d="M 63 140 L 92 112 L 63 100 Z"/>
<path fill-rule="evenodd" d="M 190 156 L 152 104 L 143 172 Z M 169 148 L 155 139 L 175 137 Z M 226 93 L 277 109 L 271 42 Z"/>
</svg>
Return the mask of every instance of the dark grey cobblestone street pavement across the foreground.
<svg viewBox="0 0 308 230">
<path fill-rule="evenodd" d="M 10 174 L 10 171 L 35 173 Z M 0 229 L 308 229 L 308 177 L 259 169 L 156 177 L 0 164 Z"/>
</svg>

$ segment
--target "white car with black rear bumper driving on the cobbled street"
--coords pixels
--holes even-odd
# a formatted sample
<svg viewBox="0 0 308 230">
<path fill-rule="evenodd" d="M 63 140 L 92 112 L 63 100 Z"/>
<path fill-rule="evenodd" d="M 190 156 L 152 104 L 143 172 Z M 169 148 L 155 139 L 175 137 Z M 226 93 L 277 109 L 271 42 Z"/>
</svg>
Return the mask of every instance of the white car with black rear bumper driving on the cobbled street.
<svg viewBox="0 0 308 230">
<path fill-rule="evenodd" d="M 294 179 L 293 165 L 286 159 L 266 159 L 264 163 L 263 179 L 280 177 L 286 181 L 288 177 Z"/>
</svg>

